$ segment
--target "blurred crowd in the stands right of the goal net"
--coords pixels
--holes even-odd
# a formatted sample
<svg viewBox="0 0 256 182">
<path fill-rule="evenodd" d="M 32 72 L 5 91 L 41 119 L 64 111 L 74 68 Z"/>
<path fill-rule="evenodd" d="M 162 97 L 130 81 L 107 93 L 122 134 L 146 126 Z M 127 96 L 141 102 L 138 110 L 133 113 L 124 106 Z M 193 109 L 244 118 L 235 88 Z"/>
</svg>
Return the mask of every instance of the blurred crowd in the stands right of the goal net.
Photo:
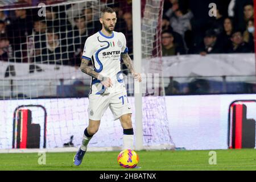
<svg viewBox="0 0 256 182">
<path fill-rule="evenodd" d="M 163 56 L 254 52 L 253 0 L 166 0 L 162 28 Z"/>
</svg>

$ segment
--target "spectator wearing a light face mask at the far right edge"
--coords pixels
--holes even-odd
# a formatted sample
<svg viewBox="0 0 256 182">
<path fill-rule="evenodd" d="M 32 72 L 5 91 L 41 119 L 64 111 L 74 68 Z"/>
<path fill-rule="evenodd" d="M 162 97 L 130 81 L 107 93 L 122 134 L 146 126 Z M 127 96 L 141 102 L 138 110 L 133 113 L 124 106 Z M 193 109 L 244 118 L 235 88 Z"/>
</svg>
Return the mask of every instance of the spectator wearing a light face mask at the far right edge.
<svg viewBox="0 0 256 182">
<path fill-rule="evenodd" d="M 254 19 L 247 22 L 246 31 L 243 32 L 243 41 L 249 44 L 251 51 L 254 51 Z"/>
</svg>

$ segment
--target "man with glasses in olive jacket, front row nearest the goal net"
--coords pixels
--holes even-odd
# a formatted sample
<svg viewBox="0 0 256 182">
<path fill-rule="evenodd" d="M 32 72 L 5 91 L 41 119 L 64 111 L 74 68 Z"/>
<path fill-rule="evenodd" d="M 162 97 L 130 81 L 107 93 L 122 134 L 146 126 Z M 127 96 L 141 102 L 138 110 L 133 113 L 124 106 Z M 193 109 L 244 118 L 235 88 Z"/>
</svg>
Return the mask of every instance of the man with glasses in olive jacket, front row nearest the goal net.
<svg viewBox="0 0 256 182">
<path fill-rule="evenodd" d="M 162 55 L 163 56 L 173 56 L 173 55 L 183 55 L 185 50 L 174 43 L 174 36 L 170 31 L 162 32 Z"/>
</svg>

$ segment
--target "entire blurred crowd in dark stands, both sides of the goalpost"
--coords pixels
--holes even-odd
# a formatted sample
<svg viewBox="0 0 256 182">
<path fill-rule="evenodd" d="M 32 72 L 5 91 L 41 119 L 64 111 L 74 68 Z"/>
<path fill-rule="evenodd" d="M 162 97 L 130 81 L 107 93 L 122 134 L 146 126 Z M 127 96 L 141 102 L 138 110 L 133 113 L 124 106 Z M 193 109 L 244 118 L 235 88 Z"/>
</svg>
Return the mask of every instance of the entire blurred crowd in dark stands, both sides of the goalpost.
<svg viewBox="0 0 256 182">
<path fill-rule="evenodd" d="M 46 5 L 53 1 L 19 0 Z M 209 7 L 216 3 L 216 10 Z M 88 36 L 101 29 L 93 6 L 76 10 L 77 3 L 39 9 L 0 11 L 0 60 L 77 65 Z M 126 35 L 133 58 L 131 1 L 110 6 L 118 16 L 115 31 Z M 209 11 L 214 16 L 209 15 Z M 254 52 L 253 0 L 165 0 L 162 17 L 162 55 Z"/>
</svg>

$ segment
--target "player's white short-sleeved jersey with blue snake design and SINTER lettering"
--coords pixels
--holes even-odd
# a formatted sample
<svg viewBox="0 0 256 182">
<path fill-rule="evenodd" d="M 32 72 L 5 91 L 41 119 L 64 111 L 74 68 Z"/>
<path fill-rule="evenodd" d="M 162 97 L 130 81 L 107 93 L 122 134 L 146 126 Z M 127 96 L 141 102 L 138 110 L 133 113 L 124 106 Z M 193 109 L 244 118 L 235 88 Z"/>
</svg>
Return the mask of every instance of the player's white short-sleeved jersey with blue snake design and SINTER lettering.
<svg viewBox="0 0 256 182">
<path fill-rule="evenodd" d="M 101 31 L 86 39 L 82 58 L 91 60 L 93 70 L 102 76 L 110 77 L 113 86 L 104 88 L 97 78 L 92 78 L 90 94 L 108 94 L 123 92 L 125 84 L 121 73 L 121 53 L 127 53 L 125 35 L 112 32 L 112 36 L 105 36 Z"/>
</svg>

